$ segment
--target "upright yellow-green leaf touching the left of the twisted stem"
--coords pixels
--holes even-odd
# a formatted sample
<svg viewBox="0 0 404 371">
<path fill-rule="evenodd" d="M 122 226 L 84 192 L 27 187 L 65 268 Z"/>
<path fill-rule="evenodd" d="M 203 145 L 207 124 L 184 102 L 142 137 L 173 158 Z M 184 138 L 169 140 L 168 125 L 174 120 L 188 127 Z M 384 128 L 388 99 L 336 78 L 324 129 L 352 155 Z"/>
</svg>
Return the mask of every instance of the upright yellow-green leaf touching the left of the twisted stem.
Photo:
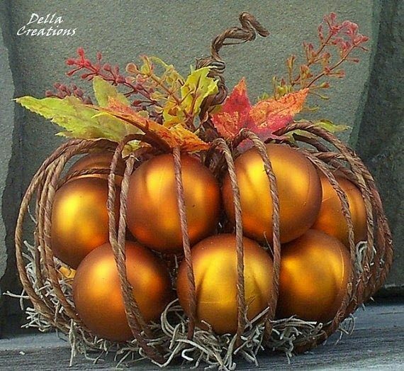
<svg viewBox="0 0 404 371">
<path fill-rule="evenodd" d="M 196 116 L 201 111 L 203 99 L 218 92 L 218 82 L 208 77 L 210 67 L 191 70 L 181 87 L 181 100 L 170 97 L 164 105 L 164 126 L 171 127 L 178 123 L 188 127 L 194 126 Z"/>
</svg>

